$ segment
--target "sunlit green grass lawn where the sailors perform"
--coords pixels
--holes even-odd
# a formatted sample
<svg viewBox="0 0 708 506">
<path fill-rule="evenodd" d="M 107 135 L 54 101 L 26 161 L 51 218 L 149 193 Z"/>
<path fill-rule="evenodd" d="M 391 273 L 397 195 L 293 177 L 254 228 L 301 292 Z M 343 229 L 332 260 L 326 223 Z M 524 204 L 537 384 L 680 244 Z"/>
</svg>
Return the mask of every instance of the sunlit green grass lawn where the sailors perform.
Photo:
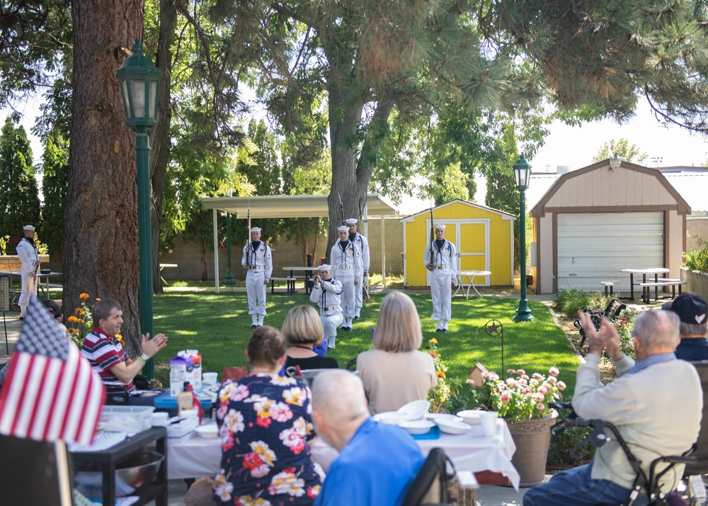
<svg viewBox="0 0 708 506">
<path fill-rule="evenodd" d="M 354 332 L 339 333 L 337 347 L 330 350 L 330 356 L 340 366 L 372 347 L 371 329 L 376 325 L 383 297 L 375 294 L 370 303 L 365 303 Z M 578 359 L 544 305 L 530 302 L 536 321 L 517 324 L 511 318 L 518 299 L 453 298 L 450 332 L 443 334 L 435 332 L 435 322 L 430 320 L 430 293 L 411 293 L 411 298 L 423 322 L 423 347 L 428 339 L 438 339 L 438 352 L 449 368 L 448 378 L 466 379 L 477 362 L 501 373 L 501 337 L 490 337 L 484 330 L 475 332 L 487 320 L 496 319 L 504 329 L 504 369 L 523 368 L 529 374 L 545 374 L 549 367 L 556 366 L 561 370 L 560 379 L 569 386 L 567 393 L 572 393 Z M 304 293 L 295 296 L 269 293 L 265 324 L 280 328 L 290 308 L 299 304 L 309 304 Z M 251 317 L 245 293 L 228 289 L 222 293 L 166 292 L 154 298 L 154 317 L 154 331 L 164 332 L 170 338 L 167 349 L 156 356 L 156 376 L 164 386 L 169 383 L 169 359 L 181 349 L 199 349 L 204 371 L 220 372 L 225 366 L 246 365 L 244 349 L 251 334 Z"/>
</svg>

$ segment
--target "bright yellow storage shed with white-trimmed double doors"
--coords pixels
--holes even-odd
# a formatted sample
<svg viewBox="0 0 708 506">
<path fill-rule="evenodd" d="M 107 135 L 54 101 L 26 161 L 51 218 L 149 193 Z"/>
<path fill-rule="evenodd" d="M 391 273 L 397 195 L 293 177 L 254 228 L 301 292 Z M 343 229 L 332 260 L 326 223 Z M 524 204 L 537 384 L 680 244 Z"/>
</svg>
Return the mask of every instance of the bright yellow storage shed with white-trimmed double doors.
<svg viewBox="0 0 708 506">
<path fill-rule="evenodd" d="M 476 286 L 513 286 L 514 220 L 501 210 L 455 199 L 433 208 L 435 224 L 444 223 L 445 239 L 455 244 L 458 271 L 490 271 Z M 401 218 L 404 223 L 404 286 L 429 286 L 423 254 L 430 241 L 430 209 Z"/>
</svg>

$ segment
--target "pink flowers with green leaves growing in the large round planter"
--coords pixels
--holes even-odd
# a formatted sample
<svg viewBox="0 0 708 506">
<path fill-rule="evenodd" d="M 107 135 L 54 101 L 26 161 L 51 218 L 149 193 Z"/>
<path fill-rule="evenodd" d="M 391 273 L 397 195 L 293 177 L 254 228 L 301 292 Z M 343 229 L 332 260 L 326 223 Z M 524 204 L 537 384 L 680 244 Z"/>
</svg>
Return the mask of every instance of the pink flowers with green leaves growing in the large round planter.
<svg viewBox="0 0 708 506">
<path fill-rule="evenodd" d="M 556 367 L 549 369 L 548 376 L 532 373 L 529 377 L 523 369 L 508 373 L 516 376 L 502 380 L 493 371 L 482 373 L 481 388 L 471 388 L 474 407 L 496 411 L 509 423 L 518 423 L 548 415 L 548 403 L 563 398 L 561 390 L 566 384 L 558 380 Z M 467 383 L 474 386 L 474 382 Z"/>
</svg>

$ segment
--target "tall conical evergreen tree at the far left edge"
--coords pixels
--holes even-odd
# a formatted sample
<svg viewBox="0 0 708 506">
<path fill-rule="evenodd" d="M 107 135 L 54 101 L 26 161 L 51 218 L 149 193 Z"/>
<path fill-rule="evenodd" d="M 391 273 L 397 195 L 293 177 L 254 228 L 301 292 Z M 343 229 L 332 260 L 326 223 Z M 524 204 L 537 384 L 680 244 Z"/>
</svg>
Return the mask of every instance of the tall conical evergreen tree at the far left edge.
<svg viewBox="0 0 708 506">
<path fill-rule="evenodd" d="M 28 223 L 40 225 L 40 199 L 32 148 L 17 115 L 8 116 L 0 135 L 0 236 L 22 237 Z"/>
</svg>

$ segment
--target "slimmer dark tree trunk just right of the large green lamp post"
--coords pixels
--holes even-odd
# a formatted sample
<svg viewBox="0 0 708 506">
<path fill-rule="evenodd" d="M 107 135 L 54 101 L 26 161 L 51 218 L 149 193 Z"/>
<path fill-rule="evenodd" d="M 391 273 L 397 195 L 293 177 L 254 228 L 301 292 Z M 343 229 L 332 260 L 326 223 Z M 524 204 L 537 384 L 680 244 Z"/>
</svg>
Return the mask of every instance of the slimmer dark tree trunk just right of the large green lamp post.
<svg viewBox="0 0 708 506">
<path fill-rule="evenodd" d="M 162 227 L 162 204 L 164 202 L 165 174 L 170 161 L 170 122 L 172 119 L 172 52 L 175 40 L 177 8 L 173 0 L 160 0 L 160 35 L 157 41 L 156 67 L 162 72 L 160 96 L 157 102 L 157 125 L 150 135 L 150 179 L 152 198 L 150 215 L 152 223 L 152 286 L 155 293 L 162 293 L 160 276 L 160 231 Z"/>
</svg>

